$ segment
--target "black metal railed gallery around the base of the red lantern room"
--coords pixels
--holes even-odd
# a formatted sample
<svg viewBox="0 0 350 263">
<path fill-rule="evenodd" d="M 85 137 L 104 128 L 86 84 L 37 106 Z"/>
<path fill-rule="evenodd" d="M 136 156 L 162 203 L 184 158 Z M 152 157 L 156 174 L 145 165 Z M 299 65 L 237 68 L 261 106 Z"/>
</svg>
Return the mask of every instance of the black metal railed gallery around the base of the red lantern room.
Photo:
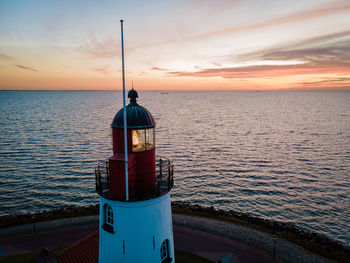
<svg viewBox="0 0 350 263">
<path fill-rule="evenodd" d="M 156 159 L 156 172 L 151 183 L 151 187 L 144 188 L 142 180 L 136 179 L 138 183 L 129 184 L 129 201 L 142 201 L 147 199 L 156 198 L 168 193 L 173 185 L 173 174 L 174 165 L 172 161 L 167 158 Z M 137 176 L 136 176 L 137 177 Z M 130 178 L 129 178 L 130 180 Z M 147 179 L 149 180 L 149 179 Z M 112 197 L 110 193 L 110 173 L 109 173 L 109 162 L 99 162 L 95 168 L 95 181 L 96 181 L 96 192 L 107 199 L 126 201 L 125 196 L 123 197 Z"/>
</svg>

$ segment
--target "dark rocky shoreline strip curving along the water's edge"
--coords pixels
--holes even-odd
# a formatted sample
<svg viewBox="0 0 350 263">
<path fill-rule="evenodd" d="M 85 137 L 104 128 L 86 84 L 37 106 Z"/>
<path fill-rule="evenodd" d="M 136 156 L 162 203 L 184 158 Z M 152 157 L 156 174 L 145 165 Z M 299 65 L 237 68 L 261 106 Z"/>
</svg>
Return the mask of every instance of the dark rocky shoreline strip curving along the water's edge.
<svg viewBox="0 0 350 263">
<path fill-rule="evenodd" d="M 242 225 L 259 230 L 299 245 L 325 258 L 338 262 L 349 262 L 350 248 L 321 234 L 297 228 L 293 224 L 262 219 L 236 211 L 216 209 L 192 205 L 185 202 L 172 202 L 172 211 L 176 214 L 195 215 Z M 0 217 L 0 229 L 15 227 L 30 223 L 66 219 L 79 216 L 96 216 L 99 205 L 88 207 L 67 207 L 36 214 L 6 215 Z"/>
</svg>

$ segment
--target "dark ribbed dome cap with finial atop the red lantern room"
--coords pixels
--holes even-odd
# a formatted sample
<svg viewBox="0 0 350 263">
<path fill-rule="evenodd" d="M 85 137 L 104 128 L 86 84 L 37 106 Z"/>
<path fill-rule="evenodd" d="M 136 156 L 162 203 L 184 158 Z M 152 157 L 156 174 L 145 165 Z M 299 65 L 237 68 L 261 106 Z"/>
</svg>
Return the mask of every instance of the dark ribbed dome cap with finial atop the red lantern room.
<svg viewBox="0 0 350 263">
<path fill-rule="evenodd" d="M 146 129 L 155 127 L 156 123 L 152 114 L 146 108 L 137 104 L 137 91 L 131 89 L 128 93 L 128 98 L 130 98 L 130 103 L 128 106 L 126 106 L 127 128 Z M 123 115 L 123 109 L 119 110 L 113 119 L 112 128 L 124 128 Z"/>
</svg>

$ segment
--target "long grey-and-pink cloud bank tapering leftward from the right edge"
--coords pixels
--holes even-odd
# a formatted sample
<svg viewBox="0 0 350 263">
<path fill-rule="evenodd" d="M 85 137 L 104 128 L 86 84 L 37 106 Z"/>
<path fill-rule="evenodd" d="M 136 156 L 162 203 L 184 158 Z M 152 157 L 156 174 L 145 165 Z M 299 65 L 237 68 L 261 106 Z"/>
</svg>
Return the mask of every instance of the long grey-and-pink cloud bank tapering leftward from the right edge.
<svg viewBox="0 0 350 263">
<path fill-rule="evenodd" d="M 320 36 L 259 52 L 243 54 L 239 62 L 268 61 L 272 65 L 241 67 L 213 67 L 194 72 L 169 72 L 169 76 L 256 78 L 307 74 L 350 74 L 350 31 Z M 300 64 L 281 65 L 281 62 L 299 61 Z M 275 65 L 273 64 L 275 62 Z M 253 63 L 254 64 L 254 63 Z"/>
</svg>

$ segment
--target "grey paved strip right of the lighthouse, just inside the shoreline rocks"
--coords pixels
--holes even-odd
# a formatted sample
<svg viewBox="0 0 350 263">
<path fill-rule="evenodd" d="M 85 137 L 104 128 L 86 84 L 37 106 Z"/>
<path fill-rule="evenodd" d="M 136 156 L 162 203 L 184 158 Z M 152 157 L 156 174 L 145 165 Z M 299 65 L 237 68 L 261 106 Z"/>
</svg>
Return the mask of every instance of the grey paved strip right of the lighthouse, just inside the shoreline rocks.
<svg viewBox="0 0 350 263">
<path fill-rule="evenodd" d="M 230 242 L 225 242 L 225 246 L 222 248 L 225 248 L 225 251 L 229 250 L 234 252 L 234 261 L 231 262 L 271 262 L 271 255 L 274 253 L 276 258 L 280 260 L 279 262 L 334 262 L 282 238 L 274 237 L 271 234 L 261 232 L 254 228 L 249 228 L 247 226 L 234 224 L 232 222 L 193 215 L 174 214 L 173 223 L 176 226 L 183 226 L 186 228 L 191 228 L 192 230 L 210 233 L 214 237 L 216 236 L 229 240 Z M 195 247 L 193 246 L 191 246 L 191 249 L 193 252 L 196 251 Z M 219 251 L 219 248 L 216 248 L 216 250 Z M 263 254 L 255 254 L 257 251 L 261 251 L 265 253 L 265 255 L 268 254 L 270 257 L 262 257 L 261 255 Z M 251 255 L 255 256 L 250 259 Z"/>
</svg>

